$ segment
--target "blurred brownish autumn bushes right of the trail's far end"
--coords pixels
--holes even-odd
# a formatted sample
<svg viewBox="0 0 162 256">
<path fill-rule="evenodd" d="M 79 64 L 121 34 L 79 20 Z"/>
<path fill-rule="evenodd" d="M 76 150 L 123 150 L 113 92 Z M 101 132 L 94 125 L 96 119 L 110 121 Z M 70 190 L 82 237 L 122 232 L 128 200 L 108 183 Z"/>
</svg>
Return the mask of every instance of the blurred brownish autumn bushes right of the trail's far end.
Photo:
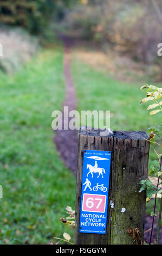
<svg viewBox="0 0 162 256">
<path fill-rule="evenodd" d="M 162 7 L 160 1 L 159 8 Z M 162 27 L 148 0 L 82 0 L 67 12 L 64 26 L 80 36 L 114 46 L 147 64 L 156 61 Z M 83 4 L 84 3 L 84 4 Z"/>
</svg>

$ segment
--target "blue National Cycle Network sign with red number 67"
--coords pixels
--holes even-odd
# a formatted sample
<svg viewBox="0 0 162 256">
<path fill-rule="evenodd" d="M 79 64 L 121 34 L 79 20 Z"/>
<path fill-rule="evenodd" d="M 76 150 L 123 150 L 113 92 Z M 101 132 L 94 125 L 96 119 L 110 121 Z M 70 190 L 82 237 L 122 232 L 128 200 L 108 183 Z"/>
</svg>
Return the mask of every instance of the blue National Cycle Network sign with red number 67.
<svg viewBox="0 0 162 256">
<path fill-rule="evenodd" d="M 106 234 L 111 152 L 84 150 L 80 233 Z"/>
</svg>

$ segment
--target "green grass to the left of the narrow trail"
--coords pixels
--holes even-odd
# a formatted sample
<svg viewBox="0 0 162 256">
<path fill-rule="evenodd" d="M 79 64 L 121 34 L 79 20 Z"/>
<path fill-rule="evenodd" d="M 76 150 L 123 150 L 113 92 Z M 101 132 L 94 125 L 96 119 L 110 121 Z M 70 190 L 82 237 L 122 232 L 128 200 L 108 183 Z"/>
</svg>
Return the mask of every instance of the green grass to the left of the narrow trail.
<svg viewBox="0 0 162 256">
<path fill-rule="evenodd" d="M 73 230 L 60 222 L 75 204 L 75 179 L 53 143 L 51 113 L 64 100 L 62 48 L 43 51 L 12 77 L 1 74 L 0 243 L 52 240 L 38 185 L 55 236 Z"/>
</svg>

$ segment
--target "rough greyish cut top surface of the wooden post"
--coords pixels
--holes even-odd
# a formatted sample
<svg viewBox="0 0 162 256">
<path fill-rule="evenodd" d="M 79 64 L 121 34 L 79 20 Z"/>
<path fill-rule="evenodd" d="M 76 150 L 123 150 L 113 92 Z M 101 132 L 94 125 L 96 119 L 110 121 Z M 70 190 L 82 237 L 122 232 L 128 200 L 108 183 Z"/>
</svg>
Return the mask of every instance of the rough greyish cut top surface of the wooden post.
<svg viewBox="0 0 162 256">
<path fill-rule="evenodd" d="M 91 127 L 80 127 L 79 135 L 93 136 L 93 137 L 103 137 L 103 138 L 116 138 L 116 139 L 148 139 L 148 135 L 144 131 L 113 131 L 108 135 L 100 135 L 100 132 L 104 130 L 95 130 Z"/>
</svg>

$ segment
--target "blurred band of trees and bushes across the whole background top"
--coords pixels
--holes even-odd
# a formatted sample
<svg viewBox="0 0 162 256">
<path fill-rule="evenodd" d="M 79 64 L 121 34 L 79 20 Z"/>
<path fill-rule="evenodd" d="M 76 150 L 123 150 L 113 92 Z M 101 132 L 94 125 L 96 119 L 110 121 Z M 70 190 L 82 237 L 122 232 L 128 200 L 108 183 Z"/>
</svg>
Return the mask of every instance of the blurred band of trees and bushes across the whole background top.
<svg viewBox="0 0 162 256">
<path fill-rule="evenodd" d="M 106 53 L 113 49 L 135 62 L 154 65 L 154 80 L 161 81 L 161 11 L 160 0 L 2 0 L 0 22 L 45 37 L 52 22 L 65 33 L 96 42 Z"/>
</svg>

